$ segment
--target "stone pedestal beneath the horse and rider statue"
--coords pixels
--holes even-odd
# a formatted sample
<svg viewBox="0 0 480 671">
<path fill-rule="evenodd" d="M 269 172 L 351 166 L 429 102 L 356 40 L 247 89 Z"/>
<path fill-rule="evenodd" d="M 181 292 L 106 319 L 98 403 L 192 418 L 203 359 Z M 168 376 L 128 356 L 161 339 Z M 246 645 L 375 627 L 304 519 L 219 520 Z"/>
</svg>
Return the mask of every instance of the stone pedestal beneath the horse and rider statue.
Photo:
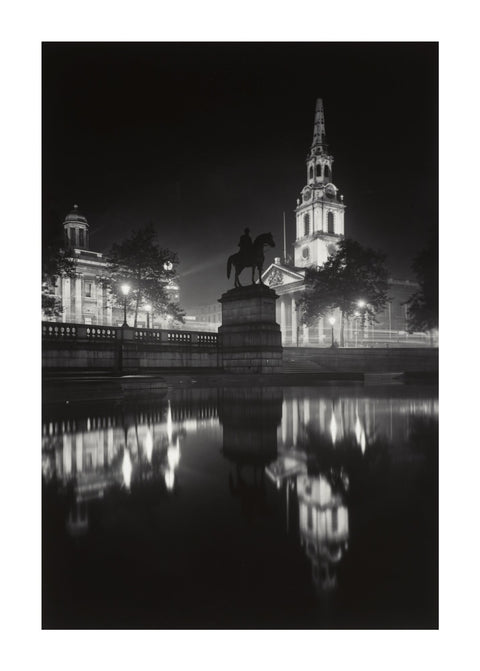
<svg viewBox="0 0 480 671">
<path fill-rule="evenodd" d="M 229 373 L 275 373 L 282 365 L 282 338 L 275 321 L 277 294 L 263 284 L 222 295 L 223 368 Z"/>
</svg>

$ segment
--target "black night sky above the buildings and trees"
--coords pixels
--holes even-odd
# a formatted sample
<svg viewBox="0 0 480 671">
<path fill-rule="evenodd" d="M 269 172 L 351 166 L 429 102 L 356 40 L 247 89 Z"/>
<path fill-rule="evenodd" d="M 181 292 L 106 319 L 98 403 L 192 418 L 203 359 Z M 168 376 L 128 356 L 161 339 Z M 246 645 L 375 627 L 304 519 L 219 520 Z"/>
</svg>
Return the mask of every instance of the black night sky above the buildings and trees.
<svg viewBox="0 0 480 671">
<path fill-rule="evenodd" d="M 78 203 L 97 251 L 152 221 L 184 307 L 213 302 L 245 226 L 273 233 L 268 265 L 285 211 L 291 250 L 317 97 L 346 235 L 411 276 L 437 225 L 435 43 L 44 44 L 44 205 Z"/>
</svg>

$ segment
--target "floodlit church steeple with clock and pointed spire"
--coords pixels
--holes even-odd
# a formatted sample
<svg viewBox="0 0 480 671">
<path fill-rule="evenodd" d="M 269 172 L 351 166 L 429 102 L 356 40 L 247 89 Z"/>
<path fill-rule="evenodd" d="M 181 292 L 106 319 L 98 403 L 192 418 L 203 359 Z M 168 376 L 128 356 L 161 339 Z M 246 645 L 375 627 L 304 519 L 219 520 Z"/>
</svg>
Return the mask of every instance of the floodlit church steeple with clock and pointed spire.
<svg viewBox="0 0 480 671">
<path fill-rule="evenodd" d="M 333 184 L 333 156 L 328 152 L 323 100 L 317 99 L 313 141 L 307 156 L 307 183 L 297 199 L 295 266 L 321 266 L 344 235 L 343 196 Z"/>
</svg>

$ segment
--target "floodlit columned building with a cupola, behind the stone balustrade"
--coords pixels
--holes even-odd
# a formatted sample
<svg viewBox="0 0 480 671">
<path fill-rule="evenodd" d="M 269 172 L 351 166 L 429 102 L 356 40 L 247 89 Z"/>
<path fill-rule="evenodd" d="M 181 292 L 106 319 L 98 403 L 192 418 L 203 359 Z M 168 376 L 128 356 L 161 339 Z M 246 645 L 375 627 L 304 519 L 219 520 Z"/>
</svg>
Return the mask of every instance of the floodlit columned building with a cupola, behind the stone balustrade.
<svg viewBox="0 0 480 671">
<path fill-rule="evenodd" d="M 90 250 L 90 232 L 86 217 L 74 205 L 63 222 L 66 247 L 76 261 L 75 277 L 58 278 L 55 295 L 61 300 L 62 315 L 59 321 L 76 324 L 100 324 L 121 326 L 123 307 L 114 304 L 105 286 L 108 277 L 107 262 L 101 252 Z M 179 299 L 177 284 L 167 286 L 171 301 Z M 55 318 L 53 318 L 55 321 Z M 169 326 L 166 317 L 153 314 L 149 322 L 158 328 Z M 147 313 L 139 310 L 137 324 L 146 327 Z"/>
</svg>

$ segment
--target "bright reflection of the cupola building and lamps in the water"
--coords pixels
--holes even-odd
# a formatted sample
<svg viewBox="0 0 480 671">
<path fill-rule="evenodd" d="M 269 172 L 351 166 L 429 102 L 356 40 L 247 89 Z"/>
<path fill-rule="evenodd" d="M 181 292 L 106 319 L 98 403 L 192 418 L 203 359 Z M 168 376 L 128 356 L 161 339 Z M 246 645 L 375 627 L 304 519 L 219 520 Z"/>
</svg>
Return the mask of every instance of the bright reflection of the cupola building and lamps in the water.
<svg viewBox="0 0 480 671">
<path fill-rule="evenodd" d="M 160 482 L 172 491 L 180 463 L 182 437 L 201 427 L 218 425 L 209 398 L 194 404 L 168 402 L 133 414 L 58 418 L 45 422 L 42 470 L 73 485 L 74 504 L 66 526 L 72 535 L 88 530 L 88 504 L 102 499 L 115 485 L 130 490 L 137 482 Z"/>
</svg>

